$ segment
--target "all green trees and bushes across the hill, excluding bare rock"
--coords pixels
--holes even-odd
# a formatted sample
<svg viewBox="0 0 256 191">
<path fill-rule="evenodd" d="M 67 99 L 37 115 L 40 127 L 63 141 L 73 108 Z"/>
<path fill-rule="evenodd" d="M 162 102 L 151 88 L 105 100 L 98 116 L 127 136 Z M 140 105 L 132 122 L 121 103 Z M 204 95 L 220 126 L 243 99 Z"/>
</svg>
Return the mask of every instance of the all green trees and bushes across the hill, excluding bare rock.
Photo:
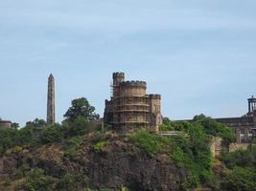
<svg viewBox="0 0 256 191">
<path fill-rule="evenodd" d="M 61 124 L 47 125 L 43 119 L 36 118 L 23 128 L 12 125 L 11 129 L 0 130 L 0 155 L 10 148 L 22 150 L 24 147 L 37 148 L 44 144 L 60 143 L 65 157 L 72 157 L 81 149 L 82 136 L 97 131 L 91 121 L 99 116 L 94 113 L 86 98 L 74 99 L 72 106 L 64 115 Z M 213 137 L 221 137 L 226 144 L 235 141 L 231 129 L 210 117 L 199 115 L 191 121 L 171 121 L 164 118 L 161 131 L 180 131 L 174 137 L 151 134 L 144 129 L 128 135 L 128 140 L 143 149 L 150 157 L 164 153 L 180 168 L 188 171 L 189 177 L 183 183 L 183 189 L 199 186 L 216 188 L 213 172 L 213 158 L 209 144 Z M 127 137 L 126 137 L 127 139 Z M 107 139 L 99 138 L 92 149 L 101 152 Z M 221 177 L 222 190 L 256 190 L 256 148 L 234 153 L 222 153 L 221 162 L 224 172 Z M 17 190 L 74 190 L 87 187 L 88 179 L 84 175 L 66 174 L 60 178 L 47 175 L 42 169 L 21 167 L 21 177 L 26 180 L 17 186 Z"/>
</svg>

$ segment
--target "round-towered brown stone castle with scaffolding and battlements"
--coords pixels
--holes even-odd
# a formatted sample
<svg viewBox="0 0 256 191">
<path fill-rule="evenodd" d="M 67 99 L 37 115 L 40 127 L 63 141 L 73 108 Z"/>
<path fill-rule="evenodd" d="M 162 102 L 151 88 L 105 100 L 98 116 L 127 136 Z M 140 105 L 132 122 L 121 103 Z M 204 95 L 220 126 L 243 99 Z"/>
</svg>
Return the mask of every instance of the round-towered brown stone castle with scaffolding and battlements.
<svg viewBox="0 0 256 191">
<path fill-rule="evenodd" d="M 162 123 L 161 96 L 146 91 L 145 81 L 125 81 L 124 73 L 114 73 L 112 95 L 105 100 L 105 123 L 117 131 L 145 127 L 157 132 Z"/>
</svg>

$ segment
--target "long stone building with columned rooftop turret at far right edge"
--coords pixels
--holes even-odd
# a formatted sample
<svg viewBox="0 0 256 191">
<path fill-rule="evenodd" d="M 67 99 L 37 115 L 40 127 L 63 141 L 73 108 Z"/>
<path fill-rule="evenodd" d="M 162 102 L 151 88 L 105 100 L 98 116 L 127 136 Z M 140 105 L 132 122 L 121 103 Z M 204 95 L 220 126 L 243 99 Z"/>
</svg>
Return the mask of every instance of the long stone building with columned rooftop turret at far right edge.
<svg viewBox="0 0 256 191">
<path fill-rule="evenodd" d="M 224 123 L 232 128 L 237 142 L 250 142 L 256 138 L 256 98 L 251 96 L 248 100 L 248 113 L 244 117 L 216 118 L 217 121 Z"/>
</svg>

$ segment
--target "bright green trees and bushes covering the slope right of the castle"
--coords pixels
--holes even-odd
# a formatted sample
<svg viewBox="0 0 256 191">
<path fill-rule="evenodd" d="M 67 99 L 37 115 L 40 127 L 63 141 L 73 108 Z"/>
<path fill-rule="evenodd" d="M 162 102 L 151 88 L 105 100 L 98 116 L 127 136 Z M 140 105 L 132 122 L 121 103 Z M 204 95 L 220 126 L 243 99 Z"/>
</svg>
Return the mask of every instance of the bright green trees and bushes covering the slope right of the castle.
<svg viewBox="0 0 256 191">
<path fill-rule="evenodd" d="M 183 133 L 167 138 L 140 130 L 132 135 L 131 141 L 150 156 L 166 152 L 177 166 L 188 169 L 190 178 L 184 188 L 199 185 L 215 187 L 209 144 L 213 137 L 223 138 L 226 144 L 235 141 L 232 130 L 210 117 L 199 115 L 191 121 L 171 121 L 165 117 L 160 131 Z"/>
</svg>

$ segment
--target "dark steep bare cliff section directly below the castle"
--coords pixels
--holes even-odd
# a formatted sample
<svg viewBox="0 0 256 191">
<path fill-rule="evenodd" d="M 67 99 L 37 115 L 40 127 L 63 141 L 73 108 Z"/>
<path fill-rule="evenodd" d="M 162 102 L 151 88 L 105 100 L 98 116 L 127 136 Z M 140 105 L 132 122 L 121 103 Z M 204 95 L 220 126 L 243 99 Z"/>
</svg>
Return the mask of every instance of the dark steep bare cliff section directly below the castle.
<svg viewBox="0 0 256 191">
<path fill-rule="evenodd" d="M 166 155 L 150 158 L 137 147 L 114 140 L 102 151 L 81 160 L 95 187 L 118 188 L 126 185 L 132 190 L 179 190 L 185 171 L 175 167 Z M 87 155 L 87 156 L 86 156 Z"/>
</svg>

